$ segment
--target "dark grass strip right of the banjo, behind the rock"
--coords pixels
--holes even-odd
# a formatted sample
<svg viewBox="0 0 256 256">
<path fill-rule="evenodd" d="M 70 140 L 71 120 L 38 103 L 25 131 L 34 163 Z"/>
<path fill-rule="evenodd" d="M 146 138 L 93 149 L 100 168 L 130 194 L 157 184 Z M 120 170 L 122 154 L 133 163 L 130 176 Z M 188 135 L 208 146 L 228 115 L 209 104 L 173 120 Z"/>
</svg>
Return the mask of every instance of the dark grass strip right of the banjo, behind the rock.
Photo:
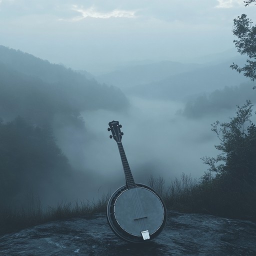
<svg viewBox="0 0 256 256">
<path fill-rule="evenodd" d="M 163 198 L 167 208 L 184 212 L 256 220 L 256 181 L 205 175 L 198 181 L 182 173 L 165 184 L 162 177 L 148 179 L 149 185 Z"/>
</svg>

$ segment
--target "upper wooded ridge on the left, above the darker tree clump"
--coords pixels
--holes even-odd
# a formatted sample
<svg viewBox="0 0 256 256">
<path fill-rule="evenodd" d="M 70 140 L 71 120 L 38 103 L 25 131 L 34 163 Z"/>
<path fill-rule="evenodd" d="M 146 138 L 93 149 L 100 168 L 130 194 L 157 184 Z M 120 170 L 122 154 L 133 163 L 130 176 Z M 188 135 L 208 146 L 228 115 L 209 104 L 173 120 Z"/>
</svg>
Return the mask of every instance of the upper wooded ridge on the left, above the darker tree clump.
<svg viewBox="0 0 256 256">
<path fill-rule="evenodd" d="M 50 122 L 56 113 L 78 116 L 84 110 L 128 106 L 117 87 L 4 46 L 0 46 L 0 99 L 0 117 L 19 114 L 37 122 L 40 118 Z"/>
</svg>

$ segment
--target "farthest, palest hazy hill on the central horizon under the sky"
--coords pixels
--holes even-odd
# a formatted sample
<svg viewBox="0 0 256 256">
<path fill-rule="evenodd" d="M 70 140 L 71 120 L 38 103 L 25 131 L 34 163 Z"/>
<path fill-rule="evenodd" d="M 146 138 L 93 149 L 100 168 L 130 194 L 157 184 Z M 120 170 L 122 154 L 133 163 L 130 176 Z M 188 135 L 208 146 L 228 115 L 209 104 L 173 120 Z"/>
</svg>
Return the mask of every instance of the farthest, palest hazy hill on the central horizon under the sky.
<svg viewBox="0 0 256 256">
<path fill-rule="evenodd" d="M 99 82 L 113 84 L 120 88 L 162 80 L 170 75 L 200 68 L 200 64 L 160 61 L 148 64 L 122 66 L 112 72 L 96 76 Z"/>
</svg>

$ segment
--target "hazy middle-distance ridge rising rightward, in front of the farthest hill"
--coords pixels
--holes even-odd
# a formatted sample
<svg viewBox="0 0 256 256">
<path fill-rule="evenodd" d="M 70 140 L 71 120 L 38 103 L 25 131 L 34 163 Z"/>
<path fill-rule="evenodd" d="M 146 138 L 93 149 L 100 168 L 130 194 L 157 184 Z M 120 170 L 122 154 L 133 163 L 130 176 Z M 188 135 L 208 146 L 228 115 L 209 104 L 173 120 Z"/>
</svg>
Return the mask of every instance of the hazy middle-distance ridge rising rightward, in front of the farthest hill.
<svg viewBox="0 0 256 256">
<path fill-rule="evenodd" d="M 233 59 L 239 64 L 242 59 Z M 191 71 L 173 74 L 159 81 L 129 88 L 129 93 L 159 99 L 184 99 L 202 92 L 211 92 L 225 86 L 236 86 L 248 81 L 232 70 L 232 62 L 204 65 Z"/>
</svg>

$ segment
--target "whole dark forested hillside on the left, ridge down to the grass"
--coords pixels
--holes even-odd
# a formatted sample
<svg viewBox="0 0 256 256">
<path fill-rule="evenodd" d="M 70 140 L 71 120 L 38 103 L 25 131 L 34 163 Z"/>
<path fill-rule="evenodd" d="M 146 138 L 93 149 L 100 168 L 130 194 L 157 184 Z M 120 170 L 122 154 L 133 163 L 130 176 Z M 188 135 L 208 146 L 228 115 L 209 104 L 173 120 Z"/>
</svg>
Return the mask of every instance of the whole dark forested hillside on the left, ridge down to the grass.
<svg viewBox="0 0 256 256">
<path fill-rule="evenodd" d="M 69 125 L 69 137 L 85 134 L 81 111 L 128 105 L 116 87 L 0 46 L 1 209 L 25 207 L 29 193 L 48 203 L 64 198 L 76 172 L 57 145 L 58 129 Z M 79 175 L 86 180 L 86 170 Z"/>
</svg>

